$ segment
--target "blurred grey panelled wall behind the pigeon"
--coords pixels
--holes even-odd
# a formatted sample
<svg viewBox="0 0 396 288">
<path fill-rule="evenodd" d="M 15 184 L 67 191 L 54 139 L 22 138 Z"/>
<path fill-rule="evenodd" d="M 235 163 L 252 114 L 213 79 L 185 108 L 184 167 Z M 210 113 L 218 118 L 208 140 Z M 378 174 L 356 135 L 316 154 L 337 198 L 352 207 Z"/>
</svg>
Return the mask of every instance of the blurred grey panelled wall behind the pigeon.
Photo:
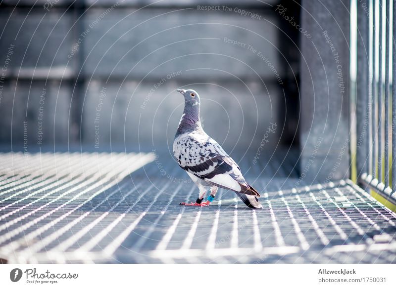
<svg viewBox="0 0 396 288">
<path fill-rule="evenodd" d="M 283 137 L 284 83 L 293 78 L 284 47 L 297 43 L 280 31 L 276 1 L 210 1 L 222 9 L 215 11 L 200 10 L 205 1 L 144 9 L 150 1 L 86 1 L 68 9 L 70 2 L 39 1 L 30 11 L 29 1 L 15 10 L 5 1 L 0 9 L 0 68 L 10 58 L 2 145 L 12 134 L 14 148 L 23 147 L 27 121 L 30 148 L 37 148 L 43 89 L 43 145 L 170 145 L 182 113 L 179 87 L 198 91 L 205 129 L 228 148 L 255 150 L 271 123 L 279 130 L 267 146 Z"/>
</svg>

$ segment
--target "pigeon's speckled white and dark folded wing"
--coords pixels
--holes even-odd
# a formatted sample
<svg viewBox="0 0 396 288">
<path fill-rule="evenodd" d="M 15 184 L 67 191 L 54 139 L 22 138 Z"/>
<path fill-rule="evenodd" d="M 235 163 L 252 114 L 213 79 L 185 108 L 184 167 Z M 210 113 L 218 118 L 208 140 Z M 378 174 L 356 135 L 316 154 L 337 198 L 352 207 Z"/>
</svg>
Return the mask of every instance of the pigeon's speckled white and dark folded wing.
<svg viewBox="0 0 396 288">
<path fill-rule="evenodd" d="M 179 165 L 198 178 L 221 188 L 260 197 L 247 184 L 235 161 L 206 134 L 190 133 L 176 139 L 173 152 Z"/>
</svg>

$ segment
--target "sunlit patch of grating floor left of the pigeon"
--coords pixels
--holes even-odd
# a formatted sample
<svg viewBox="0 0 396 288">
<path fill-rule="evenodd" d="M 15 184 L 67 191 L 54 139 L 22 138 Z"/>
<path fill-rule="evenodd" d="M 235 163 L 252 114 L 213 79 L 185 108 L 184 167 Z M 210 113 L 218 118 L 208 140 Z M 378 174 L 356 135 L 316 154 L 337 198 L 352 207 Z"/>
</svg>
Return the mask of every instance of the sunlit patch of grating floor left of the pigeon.
<svg viewBox="0 0 396 288">
<path fill-rule="evenodd" d="M 0 216 L 0 231 L 6 229 L 6 233 L 0 236 L 0 254 L 10 255 L 18 251 L 22 259 L 27 259 L 42 249 L 47 250 L 51 243 L 69 233 L 69 230 L 77 223 L 81 223 L 85 217 L 108 202 L 118 189 L 114 189 L 89 211 L 81 214 L 78 212 L 80 208 L 92 203 L 98 195 L 113 189 L 112 187 L 117 186 L 117 183 L 125 176 L 154 159 L 152 154 L 76 153 L 68 155 L 56 153 L 54 155 L 43 153 L 40 156 L 28 155 L 27 157 L 22 154 L 10 154 L 0 155 L 5 159 L 11 157 L 15 160 L 7 162 L 9 167 L 6 171 L 10 175 L 11 173 L 15 175 L 13 168 L 19 169 L 21 166 L 25 166 L 28 173 L 32 171 L 32 167 L 39 168 L 37 165 L 39 158 L 43 159 L 40 163 L 46 165 L 44 169 L 38 169 L 41 172 L 54 173 L 55 169 L 59 170 L 55 172 L 54 181 L 44 181 L 44 187 L 42 184 L 26 188 L 22 185 L 18 187 L 19 190 L 14 189 L 13 195 L 0 199 L 0 204 L 3 205 L 0 206 L 0 211 L 3 211 Z M 44 178 L 47 174 L 40 176 Z M 117 188 L 124 187 L 126 184 Z M 136 189 L 131 189 L 113 208 Z M 101 217 L 98 219 L 97 222 L 102 220 Z M 88 232 L 89 230 L 82 229 L 81 231 Z M 82 234 L 85 233 L 80 232 L 77 239 Z M 64 243 L 60 243 L 52 250 L 66 250 L 73 244 L 73 236 L 69 234 Z M 36 241 L 38 237 L 40 241 Z"/>
</svg>

